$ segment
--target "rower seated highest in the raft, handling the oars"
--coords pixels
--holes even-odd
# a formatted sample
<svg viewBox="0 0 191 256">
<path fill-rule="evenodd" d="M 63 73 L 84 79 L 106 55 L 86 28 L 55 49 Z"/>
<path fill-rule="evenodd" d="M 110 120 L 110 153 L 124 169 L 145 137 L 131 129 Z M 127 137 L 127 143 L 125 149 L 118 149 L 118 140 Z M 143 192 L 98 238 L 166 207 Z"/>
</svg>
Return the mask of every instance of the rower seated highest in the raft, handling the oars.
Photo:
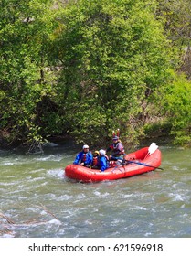
<svg viewBox="0 0 191 256">
<path fill-rule="evenodd" d="M 111 150 L 113 154 L 109 157 L 110 161 L 117 161 L 118 159 L 123 159 L 123 156 L 125 155 L 124 147 L 121 140 L 119 139 L 119 136 L 117 135 L 114 135 L 112 137 L 112 144 L 109 146 L 106 152 L 109 152 Z"/>
</svg>

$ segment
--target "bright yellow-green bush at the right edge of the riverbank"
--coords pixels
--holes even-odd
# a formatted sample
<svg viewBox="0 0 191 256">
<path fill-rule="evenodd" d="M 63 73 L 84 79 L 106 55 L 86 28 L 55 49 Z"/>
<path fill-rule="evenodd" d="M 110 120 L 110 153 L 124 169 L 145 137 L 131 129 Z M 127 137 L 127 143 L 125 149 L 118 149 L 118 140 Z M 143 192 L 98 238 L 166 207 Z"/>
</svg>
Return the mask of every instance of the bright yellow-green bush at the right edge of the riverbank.
<svg viewBox="0 0 191 256">
<path fill-rule="evenodd" d="M 168 120 L 172 123 L 171 133 L 175 136 L 175 144 L 191 144 L 191 82 L 181 75 L 166 86 L 164 110 L 168 112 Z"/>
</svg>

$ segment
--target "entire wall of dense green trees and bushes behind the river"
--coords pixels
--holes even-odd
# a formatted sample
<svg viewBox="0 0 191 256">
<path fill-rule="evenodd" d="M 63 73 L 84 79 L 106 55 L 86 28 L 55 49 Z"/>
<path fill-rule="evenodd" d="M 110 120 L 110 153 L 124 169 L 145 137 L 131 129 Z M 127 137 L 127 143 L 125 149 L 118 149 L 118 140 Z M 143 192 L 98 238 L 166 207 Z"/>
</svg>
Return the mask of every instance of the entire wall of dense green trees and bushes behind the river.
<svg viewBox="0 0 191 256">
<path fill-rule="evenodd" d="M 0 0 L 0 140 L 191 145 L 190 0 Z"/>
</svg>

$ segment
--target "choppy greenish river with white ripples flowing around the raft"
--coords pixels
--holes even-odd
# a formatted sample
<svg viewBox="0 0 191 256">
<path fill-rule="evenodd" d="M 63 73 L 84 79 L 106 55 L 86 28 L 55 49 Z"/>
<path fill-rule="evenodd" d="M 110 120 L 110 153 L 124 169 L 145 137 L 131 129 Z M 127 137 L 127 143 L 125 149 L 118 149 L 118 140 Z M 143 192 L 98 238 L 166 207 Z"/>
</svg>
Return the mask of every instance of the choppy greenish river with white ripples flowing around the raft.
<svg viewBox="0 0 191 256">
<path fill-rule="evenodd" d="M 160 146 L 164 171 L 83 184 L 64 167 L 72 144 L 0 150 L 0 237 L 191 237 L 191 149 Z"/>
</svg>

